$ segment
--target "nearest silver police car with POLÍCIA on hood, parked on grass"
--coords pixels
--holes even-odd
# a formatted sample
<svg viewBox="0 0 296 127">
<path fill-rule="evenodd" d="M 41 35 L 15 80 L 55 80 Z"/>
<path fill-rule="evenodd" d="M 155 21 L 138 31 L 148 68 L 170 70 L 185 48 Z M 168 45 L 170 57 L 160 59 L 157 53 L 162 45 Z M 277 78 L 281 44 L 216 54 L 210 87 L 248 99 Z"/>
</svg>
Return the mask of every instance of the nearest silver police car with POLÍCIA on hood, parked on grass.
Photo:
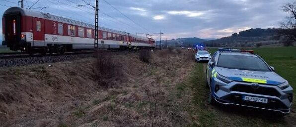
<svg viewBox="0 0 296 127">
<path fill-rule="evenodd" d="M 206 71 L 209 102 L 289 114 L 293 88 L 252 50 L 219 49 Z"/>
</svg>

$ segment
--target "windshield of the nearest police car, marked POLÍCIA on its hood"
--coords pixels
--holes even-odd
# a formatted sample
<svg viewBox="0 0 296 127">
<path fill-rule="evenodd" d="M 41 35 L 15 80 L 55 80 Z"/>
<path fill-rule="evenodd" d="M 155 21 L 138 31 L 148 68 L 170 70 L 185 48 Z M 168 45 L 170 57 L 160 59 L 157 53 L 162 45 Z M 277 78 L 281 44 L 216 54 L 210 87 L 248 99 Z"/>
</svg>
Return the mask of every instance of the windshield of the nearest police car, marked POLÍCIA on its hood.
<svg viewBox="0 0 296 127">
<path fill-rule="evenodd" d="M 239 70 L 270 71 L 261 58 L 243 55 L 220 55 L 217 66 Z"/>
</svg>

